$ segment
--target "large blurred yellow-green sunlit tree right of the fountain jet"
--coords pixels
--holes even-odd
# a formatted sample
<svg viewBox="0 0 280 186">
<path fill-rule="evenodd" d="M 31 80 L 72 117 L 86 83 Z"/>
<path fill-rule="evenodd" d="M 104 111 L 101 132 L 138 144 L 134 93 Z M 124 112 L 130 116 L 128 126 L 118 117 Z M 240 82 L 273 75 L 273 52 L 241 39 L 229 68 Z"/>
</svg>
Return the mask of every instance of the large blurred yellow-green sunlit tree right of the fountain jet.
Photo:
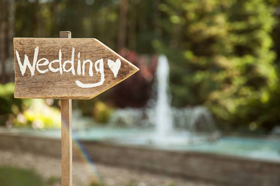
<svg viewBox="0 0 280 186">
<path fill-rule="evenodd" d="M 205 104 L 219 123 L 252 130 L 279 124 L 279 74 L 269 35 L 276 20 L 266 1 L 178 0 L 159 8 L 164 34 L 173 39 L 153 46 L 171 60 L 175 106 Z"/>
</svg>

